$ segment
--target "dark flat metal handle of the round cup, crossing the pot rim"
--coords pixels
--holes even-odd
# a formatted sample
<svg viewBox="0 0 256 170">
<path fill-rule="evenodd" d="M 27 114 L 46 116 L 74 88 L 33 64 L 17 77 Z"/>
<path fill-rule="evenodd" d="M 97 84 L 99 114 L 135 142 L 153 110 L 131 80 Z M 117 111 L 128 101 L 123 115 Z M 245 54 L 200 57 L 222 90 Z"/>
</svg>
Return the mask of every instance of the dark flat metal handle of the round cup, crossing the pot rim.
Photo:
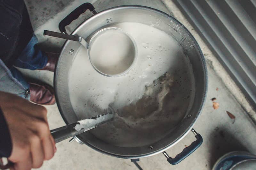
<svg viewBox="0 0 256 170">
<path fill-rule="evenodd" d="M 77 42 L 80 42 L 85 48 L 88 47 L 88 43 L 82 37 L 79 37 L 76 35 L 68 35 L 66 33 L 58 33 L 58 32 L 48 31 L 48 30 L 44 30 L 44 35 L 57 37 L 57 38 L 63 38 L 66 40 L 71 40 L 71 41 L 77 41 Z"/>
</svg>

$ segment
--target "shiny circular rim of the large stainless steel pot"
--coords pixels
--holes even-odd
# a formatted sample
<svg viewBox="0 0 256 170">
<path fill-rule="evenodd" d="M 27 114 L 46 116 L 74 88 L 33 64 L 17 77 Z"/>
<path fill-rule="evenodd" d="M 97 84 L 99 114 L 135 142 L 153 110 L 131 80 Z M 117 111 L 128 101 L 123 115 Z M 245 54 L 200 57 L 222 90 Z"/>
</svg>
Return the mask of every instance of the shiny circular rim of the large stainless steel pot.
<svg viewBox="0 0 256 170">
<path fill-rule="evenodd" d="M 204 56 L 203 56 L 203 53 L 198 45 L 198 43 L 196 42 L 195 38 L 192 36 L 192 34 L 185 28 L 185 26 L 183 26 L 179 21 L 177 21 L 175 18 L 173 18 L 172 16 L 162 12 L 162 11 L 159 11 L 159 10 L 156 10 L 156 9 L 153 9 L 153 8 L 149 8 L 149 7 L 145 7 L 145 6 L 137 6 L 137 5 L 126 5 L 126 6 L 118 6 L 118 7 L 113 7 L 113 8 L 109 8 L 109 9 L 106 9 L 104 11 L 101 11 L 95 15 L 93 15 L 92 17 L 88 18 L 87 20 L 85 20 L 82 24 L 80 24 L 73 32 L 72 32 L 72 35 L 75 35 L 79 32 L 79 29 L 81 27 L 84 27 L 86 24 L 88 24 L 89 22 L 92 22 L 95 18 L 99 17 L 100 15 L 105 15 L 107 14 L 108 12 L 111 12 L 111 11 L 117 11 L 117 10 L 124 10 L 124 9 L 128 9 L 128 10 L 131 10 L 131 9 L 137 9 L 137 10 L 147 10 L 147 11 L 151 11 L 153 13 L 157 13 L 157 14 L 160 14 L 162 15 L 163 17 L 165 18 L 168 18 L 170 20 L 173 20 L 175 21 L 176 23 L 178 23 L 182 28 L 184 28 L 186 34 L 188 35 L 188 37 L 191 39 L 191 41 L 194 42 L 195 44 L 195 48 L 197 49 L 198 53 L 199 53 L 199 57 L 200 57 L 200 64 L 201 64 L 201 67 L 202 67 L 202 71 L 203 71 L 203 76 L 201 77 L 201 79 L 203 79 L 203 82 L 204 82 L 204 85 L 203 85 L 203 88 L 202 88 L 202 96 L 201 96 L 201 100 L 200 100 L 200 103 L 198 103 L 198 109 L 197 109 L 197 113 L 194 116 L 194 119 L 193 121 L 190 123 L 190 125 L 186 128 L 186 130 L 184 130 L 184 132 L 182 134 L 180 134 L 180 137 L 177 137 L 172 143 L 169 143 L 169 144 L 166 144 L 164 147 L 161 147 L 161 148 L 158 148 L 157 150 L 154 150 L 152 149 L 152 152 L 147 152 L 145 154 L 138 154 L 138 155 L 125 155 L 125 154 L 117 154 L 117 153 L 114 153 L 114 152 L 109 152 L 109 151 L 104 151 L 100 148 L 97 148 L 95 147 L 94 145 L 88 143 L 88 142 L 85 142 L 83 140 L 82 137 L 80 136 L 77 136 L 75 137 L 78 141 L 90 146 L 91 148 L 93 148 L 94 150 L 98 151 L 98 152 L 101 152 L 101 153 L 104 153 L 104 154 L 108 154 L 108 155 L 111 155 L 111 156 L 115 156 L 115 157 L 118 157 L 118 158 L 128 158 L 128 159 L 137 159 L 137 158 L 142 158 L 142 157 L 147 157 L 147 156 L 152 156 L 152 155 L 155 155 L 155 154 L 158 154 L 160 152 L 163 152 L 164 150 L 167 150 L 169 149 L 170 147 L 172 147 L 173 145 L 177 144 L 183 137 L 185 137 L 188 132 L 193 128 L 198 116 L 201 114 L 201 111 L 202 111 L 202 108 L 204 106 L 204 103 L 205 103 L 205 99 L 206 99 L 206 93 L 207 93 L 207 85 L 208 85 L 208 76 L 207 76 L 207 69 L 206 69 L 206 63 L 205 63 L 205 60 L 204 60 Z M 62 47 L 62 50 L 61 50 L 61 54 L 62 55 L 63 53 L 67 52 L 67 47 L 69 45 L 69 41 L 66 41 L 65 44 L 63 45 Z M 63 109 L 60 105 L 60 96 L 58 94 L 58 85 L 57 85 L 57 82 L 58 82 L 58 69 L 60 67 L 60 60 L 58 61 L 57 63 L 57 66 L 55 68 L 55 72 L 54 72 L 54 89 L 55 89 L 55 96 L 56 96 L 56 103 L 58 105 L 58 108 L 60 110 L 60 114 L 63 118 L 63 120 L 68 124 L 68 120 L 66 118 L 66 115 L 64 114 L 63 112 Z M 188 115 L 189 117 L 189 115 Z M 149 146 L 150 147 L 150 146 Z"/>
</svg>

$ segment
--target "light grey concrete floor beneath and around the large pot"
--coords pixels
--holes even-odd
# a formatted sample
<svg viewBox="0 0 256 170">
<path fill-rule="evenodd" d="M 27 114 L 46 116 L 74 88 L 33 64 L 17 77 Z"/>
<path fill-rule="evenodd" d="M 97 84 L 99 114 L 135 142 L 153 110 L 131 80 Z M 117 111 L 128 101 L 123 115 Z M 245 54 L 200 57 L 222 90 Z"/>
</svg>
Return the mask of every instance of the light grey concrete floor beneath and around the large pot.
<svg viewBox="0 0 256 170">
<path fill-rule="evenodd" d="M 203 144 L 188 158 L 175 166 L 170 165 L 163 154 L 142 158 L 139 164 L 143 169 L 211 169 L 214 162 L 221 155 L 229 151 L 247 150 L 256 154 L 256 126 L 253 123 L 253 119 L 247 114 L 249 112 L 248 109 L 250 110 L 249 104 L 246 103 L 246 100 L 243 100 L 244 103 L 241 103 L 241 100 L 237 98 L 237 96 L 243 97 L 243 95 L 239 93 L 235 85 L 233 85 L 234 87 L 230 87 L 230 83 L 222 81 L 223 76 L 225 78 L 229 78 L 229 76 L 171 0 L 141 0 L 139 2 L 136 0 L 91 0 L 88 2 L 94 3 L 96 11 L 125 4 L 151 6 L 169 14 L 171 14 L 170 11 L 172 11 L 174 17 L 183 23 L 195 36 L 207 60 L 209 90 L 203 112 L 194 126 L 194 129 L 204 138 Z M 39 38 L 42 48 L 52 49 L 54 51 L 60 50 L 64 41 L 44 37 L 42 35 L 43 30 L 58 31 L 58 23 L 60 20 L 82 3 L 84 3 L 82 0 L 26 0 L 35 34 Z M 67 30 L 73 30 L 82 20 L 90 15 L 90 12 L 81 15 Z M 222 70 L 221 74 L 219 73 L 220 70 Z M 21 71 L 28 77 L 41 79 L 53 85 L 53 73 L 49 71 Z M 230 79 L 229 82 L 232 83 L 232 80 Z M 218 91 L 216 88 L 218 88 Z M 216 97 L 216 101 L 220 103 L 220 108 L 217 110 L 212 108 L 212 101 L 210 99 L 213 97 Z M 47 106 L 47 110 L 50 129 L 65 125 L 56 104 Z M 233 120 L 228 117 L 226 111 L 236 116 L 234 123 Z M 250 113 L 252 113 L 251 117 L 253 118 L 254 112 L 252 109 L 250 111 L 252 111 Z M 194 140 L 194 135 L 189 133 L 178 144 L 166 152 L 174 157 L 183 150 L 185 145 L 191 144 Z M 44 162 L 44 165 L 40 168 L 41 170 L 136 169 L 136 166 L 134 166 L 129 159 L 118 159 L 104 155 L 92 150 L 86 145 L 80 145 L 75 141 L 68 143 L 68 140 L 66 140 L 58 143 L 56 146 L 57 152 L 54 158 Z"/>
</svg>

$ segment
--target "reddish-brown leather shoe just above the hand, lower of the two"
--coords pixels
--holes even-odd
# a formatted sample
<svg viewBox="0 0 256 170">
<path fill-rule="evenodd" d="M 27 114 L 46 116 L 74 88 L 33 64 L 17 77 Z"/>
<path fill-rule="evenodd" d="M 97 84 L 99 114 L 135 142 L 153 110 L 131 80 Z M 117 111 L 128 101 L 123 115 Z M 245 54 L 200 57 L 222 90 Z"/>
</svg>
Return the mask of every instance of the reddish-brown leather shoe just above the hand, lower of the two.
<svg viewBox="0 0 256 170">
<path fill-rule="evenodd" d="M 49 85 L 38 85 L 36 83 L 28 83 L 30 85 L 30 101 L 40 105 L 53 105 L 55 101 L 53 88 Z"/>
</svg>

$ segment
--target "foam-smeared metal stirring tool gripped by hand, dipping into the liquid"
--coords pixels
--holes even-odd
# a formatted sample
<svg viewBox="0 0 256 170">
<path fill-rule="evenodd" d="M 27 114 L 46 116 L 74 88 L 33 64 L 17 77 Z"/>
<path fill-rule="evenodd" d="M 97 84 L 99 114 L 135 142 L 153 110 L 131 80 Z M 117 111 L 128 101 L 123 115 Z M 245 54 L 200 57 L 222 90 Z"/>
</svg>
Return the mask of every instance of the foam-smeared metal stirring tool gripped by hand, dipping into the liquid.
<svg viewBox="0 0 256 170">
<path fill-rule="evenodd" d="M 76 135 L 79 135 L 79 134 L 81 134 L 85 131 L 88 131 L 90 129 L 96 128 L 96 127 L 98 127 L 99 125 L 101 125 L 103 123 L 109 122 L 112 118 L 113 118 L 112 113 L 106 113 L 106 114 L 98 115 L 98 116 L 95 116 L 95 117 L 92 117 L 92 118 L 89 118 L 89 119 L 86 119 L 86 120 L 81 120 L 81 121 L 86 121 L 86 124 L 83 125 L 83 128 L 80 131 L 77 131 L 75 129 L 76 125 L 80 124 L 80 121 L 79 121 L 79 122 L 75 122 L 75 123 L 57 128 L 57 129 L 52 129 L 51 134 L 52 134 L 52 137 L 55 140 L 55 143 L 58 143 L 58 142 L 61 142 L 65 139 L 68 139 L 70 137 L 74 137 Z"/>
</svg>

